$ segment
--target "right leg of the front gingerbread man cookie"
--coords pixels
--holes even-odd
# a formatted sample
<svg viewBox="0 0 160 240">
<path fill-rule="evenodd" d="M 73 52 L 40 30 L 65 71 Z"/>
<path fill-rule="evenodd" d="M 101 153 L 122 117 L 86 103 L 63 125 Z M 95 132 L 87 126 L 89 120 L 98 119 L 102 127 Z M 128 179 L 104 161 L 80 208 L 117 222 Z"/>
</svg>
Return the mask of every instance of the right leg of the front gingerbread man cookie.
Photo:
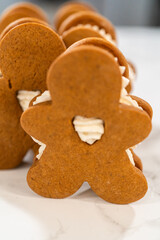
<svg viewBox="0 0 160 240">
<path fill-rule="evenodd" d="M 90 179 L 92 190 L 104 200 L 127 204 L 142 198 L 147 191 L 147 181 L 137 167 L 134 167 L 125 153 L 96 171 Z"/>
</svg>

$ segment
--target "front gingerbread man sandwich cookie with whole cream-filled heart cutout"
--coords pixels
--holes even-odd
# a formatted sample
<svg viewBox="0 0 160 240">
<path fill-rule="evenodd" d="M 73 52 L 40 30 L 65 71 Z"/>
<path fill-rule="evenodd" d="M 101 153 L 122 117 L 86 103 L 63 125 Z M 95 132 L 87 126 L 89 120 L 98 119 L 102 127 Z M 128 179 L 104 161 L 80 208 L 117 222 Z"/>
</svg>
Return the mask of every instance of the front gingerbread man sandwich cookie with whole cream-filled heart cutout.
<svg viewBox="0 0 160 240">
<path fill-rule="evenodd" d="M 43 147 L 28 172 L 31 189 L 64 198 L 87 181 L 112 203 L 142 198 L 147 182 L 128 150 L 148 136 L 151 117 L 145 103 L 120 102 L 124 86 L 114 55 L 94 45 L 73 47 L 51 65 L 47 85 L 51 100 L 42 94 L 21 117 Z"/>
</svg>

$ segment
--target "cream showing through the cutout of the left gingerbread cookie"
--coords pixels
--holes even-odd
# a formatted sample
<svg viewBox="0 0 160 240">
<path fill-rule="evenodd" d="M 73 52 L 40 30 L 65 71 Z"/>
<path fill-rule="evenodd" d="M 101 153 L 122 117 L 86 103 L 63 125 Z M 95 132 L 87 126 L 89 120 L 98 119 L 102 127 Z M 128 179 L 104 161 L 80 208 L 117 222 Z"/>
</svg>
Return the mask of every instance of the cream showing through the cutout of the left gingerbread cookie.
<svg viewBox="0 0 160 240">
<path fill-rule="evenodd" d="M 19 90 L 17 93 L 17 99 L 23 111 L 29 107 L 30 101 L 40 94 L 40 91 L 26 91 Z"/>
</svg>

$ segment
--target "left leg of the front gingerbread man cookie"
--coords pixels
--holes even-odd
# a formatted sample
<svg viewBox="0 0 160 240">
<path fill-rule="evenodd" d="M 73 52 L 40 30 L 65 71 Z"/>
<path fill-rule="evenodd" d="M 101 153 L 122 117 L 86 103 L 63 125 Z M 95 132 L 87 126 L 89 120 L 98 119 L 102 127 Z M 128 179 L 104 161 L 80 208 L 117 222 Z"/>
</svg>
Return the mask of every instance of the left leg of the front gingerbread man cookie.
<svg viewBox="0 0 160 240">
<path fill-rule="evenodd" d="M 48 198 L 65 198 L 74 194 L 83 183 L 81 176 L 60 162 L 48 159 L 45 159 L 44 152 L 40 160 L 34 161 L 27 175 L 29 187 Z"/>
</svg>

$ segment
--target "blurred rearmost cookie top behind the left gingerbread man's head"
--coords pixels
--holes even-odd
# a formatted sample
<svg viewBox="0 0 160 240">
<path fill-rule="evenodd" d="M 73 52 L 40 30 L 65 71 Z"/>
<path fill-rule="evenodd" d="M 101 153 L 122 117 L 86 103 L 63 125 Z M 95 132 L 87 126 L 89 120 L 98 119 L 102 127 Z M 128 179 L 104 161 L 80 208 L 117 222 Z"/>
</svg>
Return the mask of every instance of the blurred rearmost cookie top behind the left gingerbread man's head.
<svg viewBox="0 0 160 240">
<path fill-rule="evenodd" d="M 0 17 L 0 33 L 15 20 L 24 17 L 32 17 L 47 22 L 45 13 L 36 5 L 31 3 L 17 3 L 8 7 Z"/>
</svg>

